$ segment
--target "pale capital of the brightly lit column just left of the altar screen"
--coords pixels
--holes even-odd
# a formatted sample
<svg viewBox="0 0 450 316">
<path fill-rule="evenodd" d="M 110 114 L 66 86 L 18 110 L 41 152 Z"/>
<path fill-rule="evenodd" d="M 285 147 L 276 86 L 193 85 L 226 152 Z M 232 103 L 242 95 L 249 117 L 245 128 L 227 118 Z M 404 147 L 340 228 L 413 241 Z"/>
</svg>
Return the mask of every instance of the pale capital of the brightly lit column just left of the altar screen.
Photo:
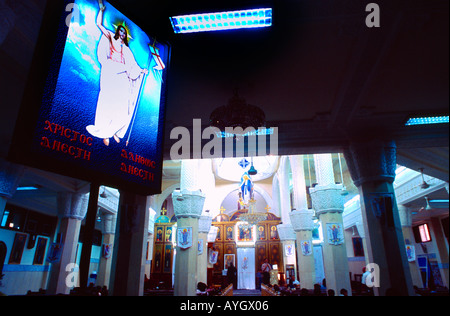
<svg viewBox="0 0 450 316">
<path fill-rule="evenodd" d="M 200 218 L 205 195 L 200 191 L 181 190 L 172 193 L 173 208 L 177 218 Z"/>
</svg>

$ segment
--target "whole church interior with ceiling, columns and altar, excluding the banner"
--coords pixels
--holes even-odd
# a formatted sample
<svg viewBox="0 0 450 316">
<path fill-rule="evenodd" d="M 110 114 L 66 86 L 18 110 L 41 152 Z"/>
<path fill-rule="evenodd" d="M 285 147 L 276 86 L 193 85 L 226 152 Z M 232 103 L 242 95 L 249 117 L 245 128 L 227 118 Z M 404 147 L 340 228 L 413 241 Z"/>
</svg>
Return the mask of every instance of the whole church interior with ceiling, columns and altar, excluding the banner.
<svg viewBox="0 0 450 316">
<path fill-rule="evenodd" d="M 171 45 L 150 196 L 9 160 L 51 2 L 0 0 L 0 294 L 448 296 L 448 1 L 376 1 L 371 28 L 356 0 L 108 1 Z M 271 27 L 169 20 L 254 7 Z M 199 121 L 270 151 L 173 157 Z"/>
</svg>

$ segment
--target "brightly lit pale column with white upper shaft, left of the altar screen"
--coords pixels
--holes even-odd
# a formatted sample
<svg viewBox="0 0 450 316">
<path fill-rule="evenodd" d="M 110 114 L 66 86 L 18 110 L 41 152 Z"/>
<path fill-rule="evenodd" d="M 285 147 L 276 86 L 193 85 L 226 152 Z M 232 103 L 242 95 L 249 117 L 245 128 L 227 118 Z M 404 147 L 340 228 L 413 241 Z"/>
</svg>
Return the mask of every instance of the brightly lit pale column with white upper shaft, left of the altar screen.
<svg viewBox="0 0 450 316">
<path fill-rule="evenodd" d="M 178 232 L 183 232 L 184 229 L 187 233 L 186 239 L 177 238 L 175 296 L 196 296 L 199 219 L 205 203 L 205 195 L 199 188 L 199 161 L 184 160 L 181 165 L 180 191 L 172 193 L 174 212 L 177 217 L 177 236 Z"/>
</svg>

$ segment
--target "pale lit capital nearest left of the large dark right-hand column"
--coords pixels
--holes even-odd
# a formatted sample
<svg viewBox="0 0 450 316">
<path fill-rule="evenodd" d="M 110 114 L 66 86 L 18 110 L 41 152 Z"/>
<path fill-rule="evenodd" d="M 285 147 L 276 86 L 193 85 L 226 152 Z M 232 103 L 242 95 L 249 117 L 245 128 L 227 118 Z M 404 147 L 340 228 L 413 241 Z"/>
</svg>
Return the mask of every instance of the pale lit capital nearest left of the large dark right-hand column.
<svg viewBox="0 0 450 316">
<path fill-rule="evenodd" d="M 344 197 L 342 184 L 316 185 L 309 190 L 316 215 L 323 213 L 343 213 Z"/>
</svg>

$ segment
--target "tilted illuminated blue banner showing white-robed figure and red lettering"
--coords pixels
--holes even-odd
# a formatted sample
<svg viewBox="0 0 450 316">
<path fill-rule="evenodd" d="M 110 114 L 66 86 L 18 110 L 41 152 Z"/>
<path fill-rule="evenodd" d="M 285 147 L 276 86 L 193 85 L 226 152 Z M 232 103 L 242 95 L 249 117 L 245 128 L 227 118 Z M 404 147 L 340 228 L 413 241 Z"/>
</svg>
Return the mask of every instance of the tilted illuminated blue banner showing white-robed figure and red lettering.
<svg viewBox="0 0 450 316">
<path fill-rule="evenodd" d="M 169 46 L 107 1 L 67 1 L 64 9 L 29 152 L 13 144 L 14 160 L 159 193 Z"/>
</svg>

